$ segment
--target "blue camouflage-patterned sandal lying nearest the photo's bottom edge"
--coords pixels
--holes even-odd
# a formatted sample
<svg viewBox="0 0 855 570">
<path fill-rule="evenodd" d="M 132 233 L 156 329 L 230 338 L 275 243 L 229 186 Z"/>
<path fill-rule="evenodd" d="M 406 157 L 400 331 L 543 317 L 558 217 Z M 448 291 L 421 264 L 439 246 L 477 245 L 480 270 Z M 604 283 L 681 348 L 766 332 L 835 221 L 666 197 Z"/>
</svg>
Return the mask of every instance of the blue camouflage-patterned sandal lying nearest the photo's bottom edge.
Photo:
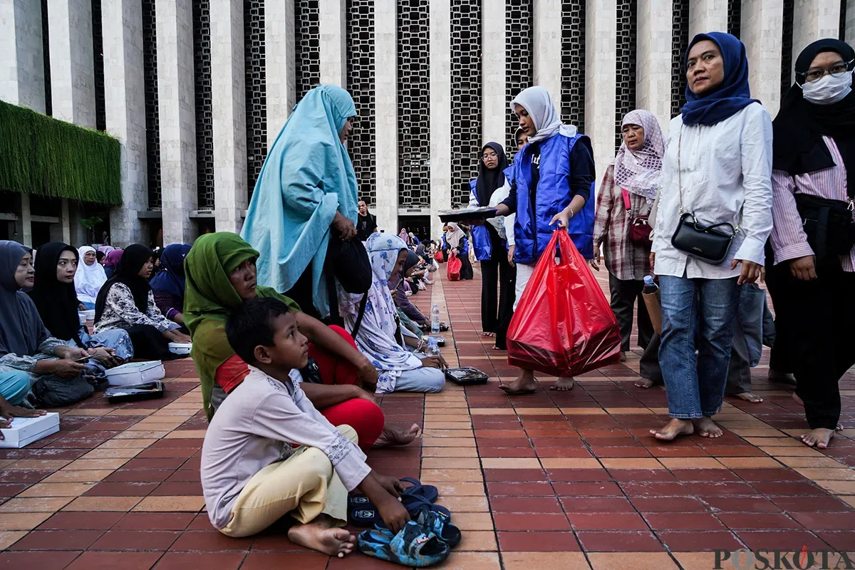
<svg viewBox="0 0 855 570">
<path fill-rule="evenodd" d="M 433 532 L 410 520 L 398 534 L 374 528 L 357 537 L 357 548 L 363 554 L 402 566 L 423 568 L 439 564 L 451 551 Z"/>
</svg>

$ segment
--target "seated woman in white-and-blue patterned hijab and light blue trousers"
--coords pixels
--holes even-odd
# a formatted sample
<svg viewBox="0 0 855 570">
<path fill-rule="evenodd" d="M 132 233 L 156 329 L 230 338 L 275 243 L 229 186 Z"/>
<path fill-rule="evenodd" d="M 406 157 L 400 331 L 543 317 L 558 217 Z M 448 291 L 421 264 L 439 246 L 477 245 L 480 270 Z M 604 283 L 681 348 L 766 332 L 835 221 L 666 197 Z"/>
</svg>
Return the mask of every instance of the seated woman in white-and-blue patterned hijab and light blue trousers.
<svg viewBox="0 0 855 570">
<path fill-rule="evenodd" d="M 390 282 L 395 285 L 402 278 L 407 244 L 397 236 L 374 233 L 366 248 L 374 279 L 363 319 L 353 337 L 360 352 L 377 367 L 377 393 L 441 391 L 445 385 L 445 361 L 410 350 L 421 349 L 423 342 L 403 332 L 389 291 Z M 339 286 L 339 311 L 347 330 L 352 331 L 356 325 L 362 300 L 363 295 L 352 295 Z"/>
</svg>

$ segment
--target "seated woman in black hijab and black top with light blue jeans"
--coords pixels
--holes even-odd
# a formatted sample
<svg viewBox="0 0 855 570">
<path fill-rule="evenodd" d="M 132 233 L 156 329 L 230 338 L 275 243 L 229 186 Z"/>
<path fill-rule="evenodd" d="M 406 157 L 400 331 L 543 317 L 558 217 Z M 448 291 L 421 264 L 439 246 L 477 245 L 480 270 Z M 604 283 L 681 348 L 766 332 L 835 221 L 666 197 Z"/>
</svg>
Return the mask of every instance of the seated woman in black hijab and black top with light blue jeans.
<svg viewBox="0 0 855 570">
<path fill-rule="evenodd" d="M 133 345 L 122 329 L 90 336 L 80 324 L 80 302 L 74 289 L 74 275 L 80 257 L 68 244 L 51 242 L 38 248 L 35 285 L 29 296 L 38 309 L 44 326 L 53 338 L 80 349 L 93 349 L 95 358 L 87 363 L 87 374 L 102 377 L 105 368 L 118 366 L 133 357 Z"/>
</svg>

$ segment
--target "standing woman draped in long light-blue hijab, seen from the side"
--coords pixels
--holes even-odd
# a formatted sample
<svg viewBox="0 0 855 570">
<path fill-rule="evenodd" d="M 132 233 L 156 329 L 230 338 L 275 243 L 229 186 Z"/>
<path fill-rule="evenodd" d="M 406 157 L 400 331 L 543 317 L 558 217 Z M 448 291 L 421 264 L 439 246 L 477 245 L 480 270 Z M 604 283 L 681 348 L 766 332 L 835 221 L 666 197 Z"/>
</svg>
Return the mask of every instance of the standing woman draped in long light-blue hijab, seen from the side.
<svg viewBox="0 0 855 570">
<path fill-rule="evenodd" d="M 345 140 L 357 115 L 335 85 L 297 104 L 264 161 L 240 236 L 261 253 L 258 285 L 273 287 L 317 319 L 330 314 L 324 261 L 330 240 L 357 235 L 357 177 Z M 329 269 L 331 271 L 331 269 Z"/>
</svg>

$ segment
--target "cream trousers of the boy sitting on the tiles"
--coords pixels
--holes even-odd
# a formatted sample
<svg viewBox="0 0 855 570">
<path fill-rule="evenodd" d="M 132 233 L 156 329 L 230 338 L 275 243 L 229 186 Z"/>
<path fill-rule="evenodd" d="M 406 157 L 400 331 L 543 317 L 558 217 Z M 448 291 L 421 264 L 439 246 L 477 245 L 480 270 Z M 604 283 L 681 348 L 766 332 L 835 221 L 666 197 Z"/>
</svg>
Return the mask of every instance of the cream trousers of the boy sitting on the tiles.
<svg viewBox="0 0 855 570">
<path fill-rule="evenodd" d="M 351 426 L 338 426 L 339 432 L 357 444 L 357 432 Z M 327 514 L 347 522 L 347 489 L 335 473 L 323 451 L 302 446 L 285 461 L 276 461 L 256 473 L 240 491 L 232 508 L 232 520 L 220 529 L 233 537 L 248 537 L 262 532 L 276 520 L 291 514 L 302 523 Z"/>
</svg>

